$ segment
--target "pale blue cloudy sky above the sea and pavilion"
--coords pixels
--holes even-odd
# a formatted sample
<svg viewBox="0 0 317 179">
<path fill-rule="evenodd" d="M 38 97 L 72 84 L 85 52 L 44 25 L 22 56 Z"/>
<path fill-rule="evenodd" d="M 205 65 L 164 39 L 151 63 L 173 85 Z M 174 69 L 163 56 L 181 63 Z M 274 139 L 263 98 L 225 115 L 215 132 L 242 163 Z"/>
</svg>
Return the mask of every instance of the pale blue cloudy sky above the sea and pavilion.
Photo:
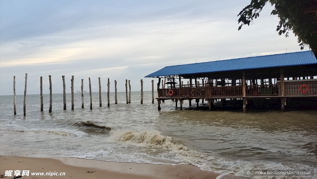
<svg viewBox="0 0 317 179">
<path fill-rule="evenodd" d="M 0 95 L 62 93 L 62 75 L 74 91 L 151 90 L 144 76 L 165 66 L 301 51 L 297 38 L 277 34 L 278 17 L 267 4 L 238 31 L 249 0 L 0 0 Z M 309 49 L 304 49 L 309 50 Z"/>
</svg>

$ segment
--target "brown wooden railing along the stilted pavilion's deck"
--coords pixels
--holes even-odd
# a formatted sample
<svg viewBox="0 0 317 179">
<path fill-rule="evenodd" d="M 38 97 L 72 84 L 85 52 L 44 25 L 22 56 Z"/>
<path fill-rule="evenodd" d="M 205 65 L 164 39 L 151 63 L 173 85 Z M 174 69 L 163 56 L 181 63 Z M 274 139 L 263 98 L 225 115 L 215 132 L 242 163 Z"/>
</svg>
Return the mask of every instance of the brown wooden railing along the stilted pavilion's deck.
<svg viewBox="0 0 317 179">
<path fill-rule="evenodd" d="M 300 91 L 303 84 L 285 84 L 286 96 L 307 96 L 317 95 L 317 83 L 308 83 L 309 90 L 306 93 Z M 243 96 L 243 86 L 206 86 L 206 85 L 177 85 L 176 88 L 159 89 L 159 97 L 223 97 L 223 96 Z M 169 90 L 173 91 L 172 95 L 168 94 Z M 307 88 L 302 87 L 302 91 Z M 171 93 L 171 92 L 170 92 Z M 263 85 L 246 85 L 246 96 L 281 96 L 280 84 L 263 84 Z"/>
</svg>

